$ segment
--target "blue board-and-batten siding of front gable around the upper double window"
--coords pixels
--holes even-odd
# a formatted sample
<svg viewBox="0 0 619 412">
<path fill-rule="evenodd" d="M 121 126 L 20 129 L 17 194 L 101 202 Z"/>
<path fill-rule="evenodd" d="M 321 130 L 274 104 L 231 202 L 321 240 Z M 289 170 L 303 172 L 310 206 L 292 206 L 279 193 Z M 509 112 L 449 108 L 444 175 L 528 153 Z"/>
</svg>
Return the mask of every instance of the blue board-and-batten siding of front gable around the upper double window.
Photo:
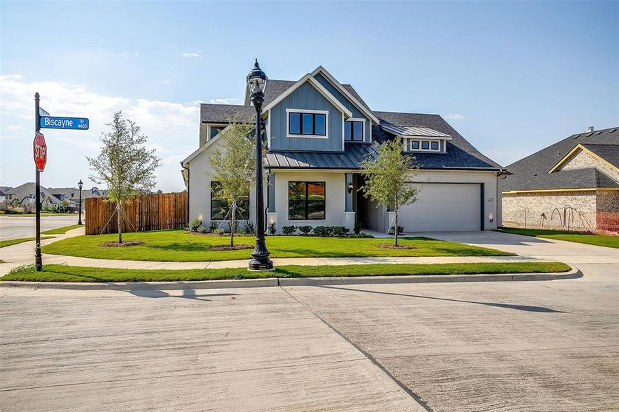
<svg viewBox="0 0 619 412">
<path fill-rule="evenodd" d="M 329 112 L 328 138 L 316 137 L 286 137 L 286 108 L 324 110 Z M 269 130 L 271 134 L 271 150 L 310 150 L 313 152 L 343 151 L 342 115 L 324 95 L 305 82 L 301 87 L 286 96 L 284 100 L 271 108 Z"/>
</svg>

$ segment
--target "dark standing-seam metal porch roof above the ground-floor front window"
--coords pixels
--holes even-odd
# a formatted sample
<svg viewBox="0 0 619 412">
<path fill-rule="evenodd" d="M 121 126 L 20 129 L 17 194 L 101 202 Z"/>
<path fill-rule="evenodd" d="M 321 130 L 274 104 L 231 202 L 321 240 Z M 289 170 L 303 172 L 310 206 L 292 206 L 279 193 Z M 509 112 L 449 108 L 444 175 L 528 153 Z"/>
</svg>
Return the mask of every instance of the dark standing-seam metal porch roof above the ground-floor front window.
<svg viewBox="0 0 619 412">
<path fill-rule="evenodd" d="M 370 144 L 347 144 L 344 152 L 267 152 L 265 168 L 269 169 L 359 169 L 366 158 L 374 159 L 376 150 Z"/>
</svg>

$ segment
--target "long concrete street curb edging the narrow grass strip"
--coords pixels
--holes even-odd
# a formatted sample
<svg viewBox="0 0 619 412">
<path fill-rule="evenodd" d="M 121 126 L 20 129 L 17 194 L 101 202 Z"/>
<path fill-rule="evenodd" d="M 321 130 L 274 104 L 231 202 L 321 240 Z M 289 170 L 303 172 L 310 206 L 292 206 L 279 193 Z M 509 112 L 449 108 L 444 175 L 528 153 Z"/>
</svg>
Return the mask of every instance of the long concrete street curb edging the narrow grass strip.
<svg viewBox="0 0 619 412">
<path fill-rule="evenodd" d="M 265 279 L 198 280 L 188 282 L 19 282 L 0 281 L 2 288 L 70 289 L 70 290 L 177 290 L 265 288 L 273 286 L 320 286 L 358 284 L 405 284 L 444 282 L 522 282 L 559 279 L 578 279 L 583 273 L 578 268 L 561 273 L 512 273 L 504 275 L 410 275 L 358 277 L 268 277 Z"/>
</svg>

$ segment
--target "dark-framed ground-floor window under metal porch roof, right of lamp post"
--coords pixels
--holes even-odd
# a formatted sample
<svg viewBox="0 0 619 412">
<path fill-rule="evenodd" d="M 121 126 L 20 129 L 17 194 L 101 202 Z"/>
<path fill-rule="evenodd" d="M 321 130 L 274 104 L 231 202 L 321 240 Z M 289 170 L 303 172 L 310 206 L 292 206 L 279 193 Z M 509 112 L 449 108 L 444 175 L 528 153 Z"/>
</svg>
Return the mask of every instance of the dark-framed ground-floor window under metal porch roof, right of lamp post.
<svg viewBox="0 0 619 412">
<path fill-rule="evenodd" d="M 325 215 L 324 182 L 288 182 L 289 220 L 322 220 Z"/>
</svg>

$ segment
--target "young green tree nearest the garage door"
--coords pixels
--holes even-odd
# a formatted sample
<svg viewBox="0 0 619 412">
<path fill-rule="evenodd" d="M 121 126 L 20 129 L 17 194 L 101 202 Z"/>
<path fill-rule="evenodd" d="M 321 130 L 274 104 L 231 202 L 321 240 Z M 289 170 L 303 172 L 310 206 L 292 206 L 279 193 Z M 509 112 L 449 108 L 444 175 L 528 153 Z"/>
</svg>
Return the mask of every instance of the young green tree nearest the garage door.
<svg viewBox="0 0 619 412">
<path fill-rule="evenodd" d="M 377 146 L 376 159 L 365 159 L 361 163 L 365 185 L 363 196 L 372 198 L 384 207 L 394 211 L 394 244 L 398 246 L 398 212 L 404 205 L 416 201 L 417 189 L 407 184 L 416 174 L 415 158 L 403 153 L 401 139 L 384 141 Z"/>
</svg>

